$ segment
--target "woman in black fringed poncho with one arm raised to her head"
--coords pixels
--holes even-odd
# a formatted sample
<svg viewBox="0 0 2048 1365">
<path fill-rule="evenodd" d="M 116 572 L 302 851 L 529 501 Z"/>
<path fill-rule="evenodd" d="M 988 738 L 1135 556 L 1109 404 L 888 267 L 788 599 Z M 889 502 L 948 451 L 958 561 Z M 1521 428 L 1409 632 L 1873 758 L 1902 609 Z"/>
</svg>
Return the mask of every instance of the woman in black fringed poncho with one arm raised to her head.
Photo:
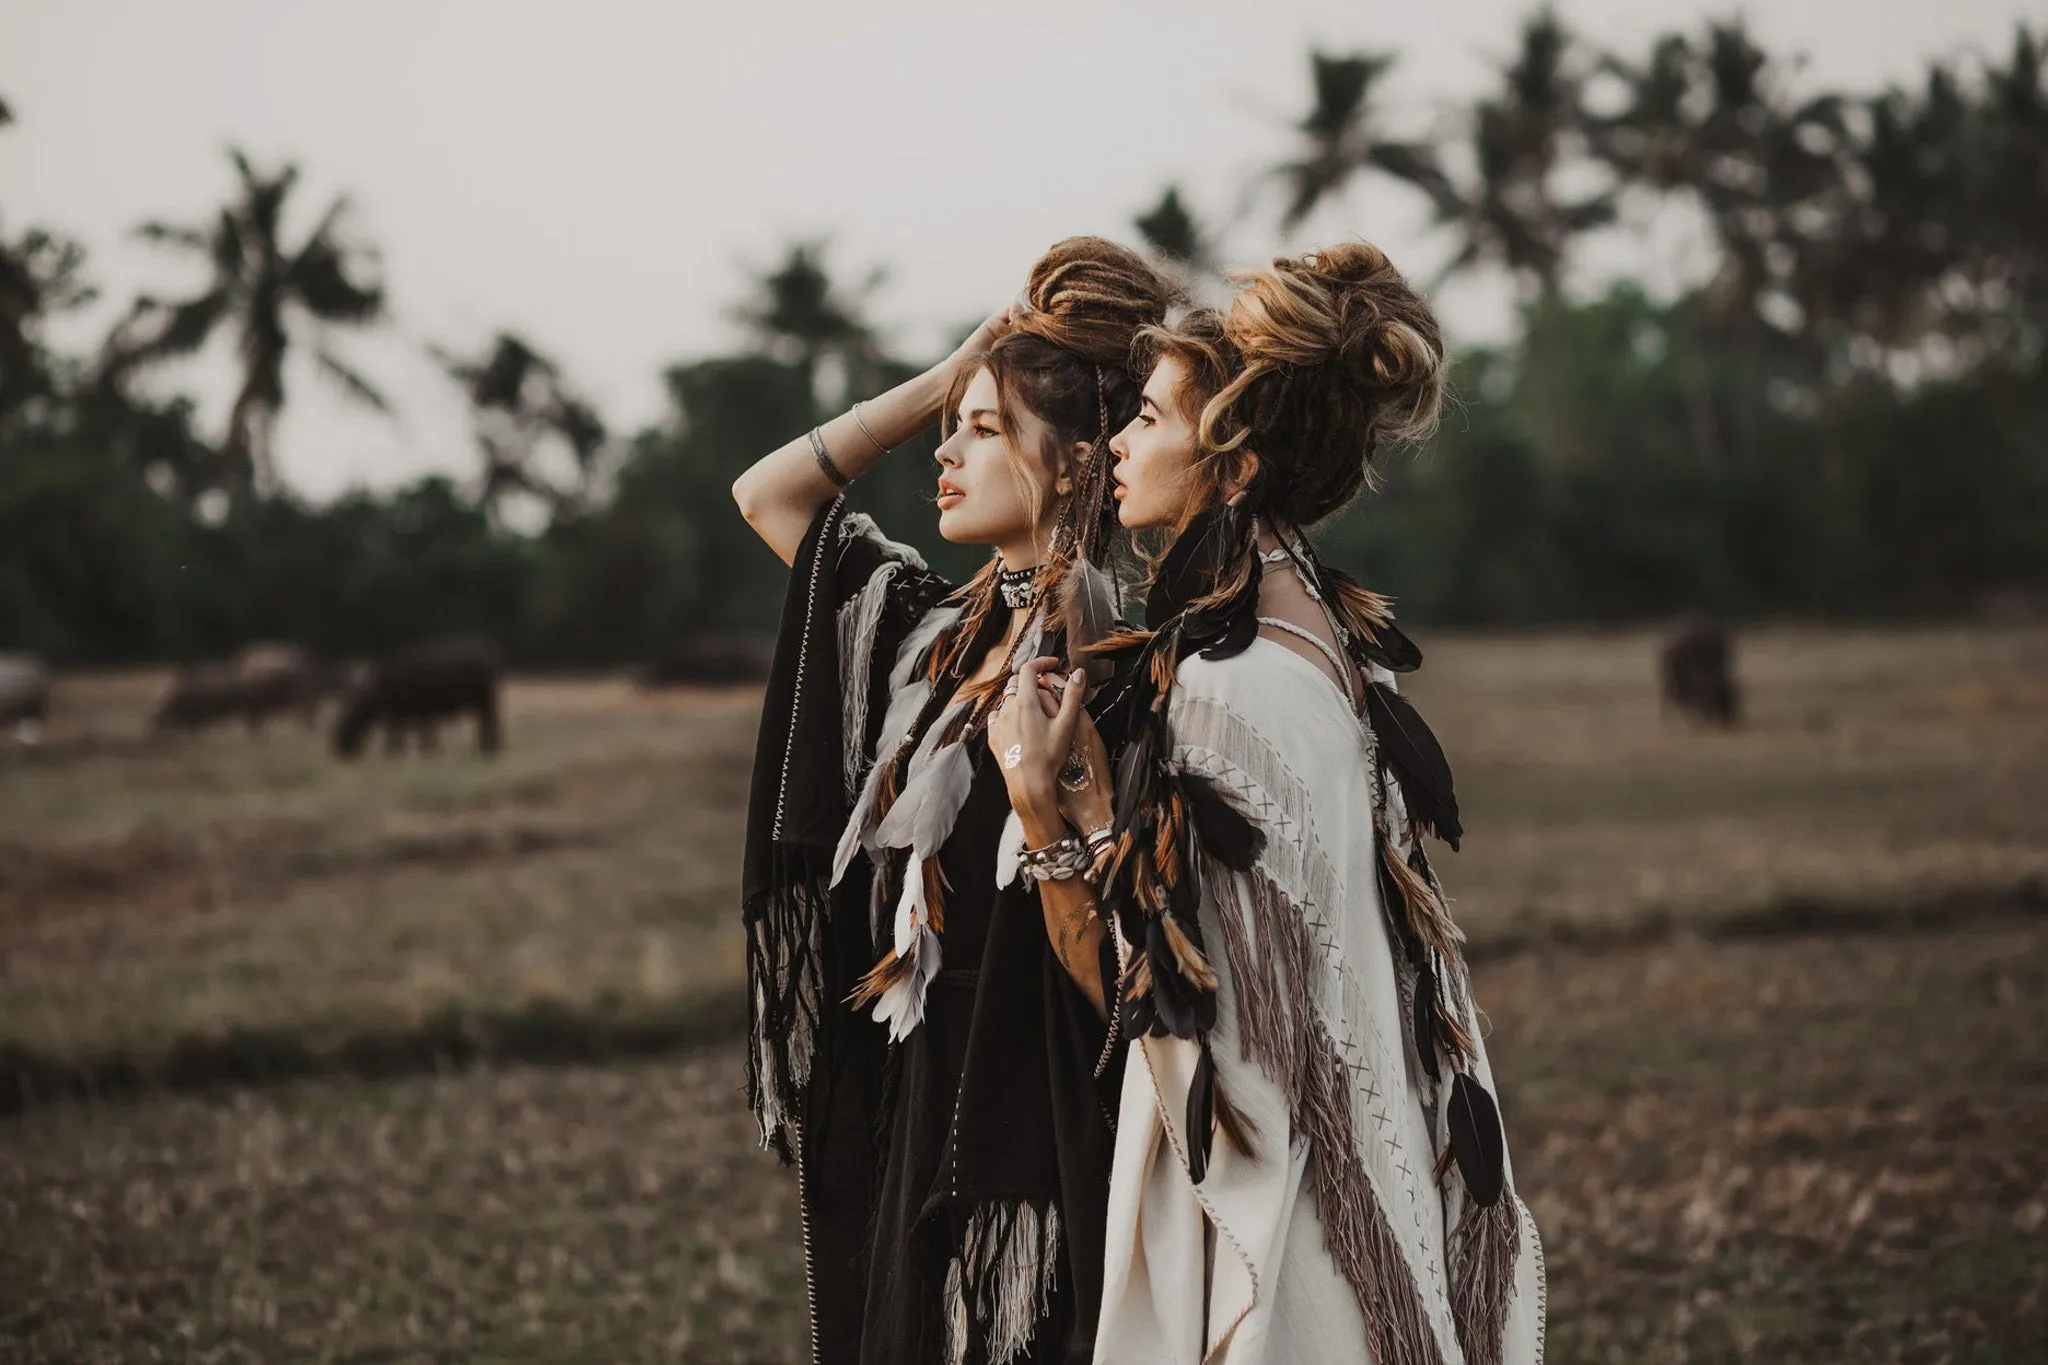
<svg viewBox="0 0 2048 1365">
<path fill-rule="evenodd" d="M 1085 677 L 1047 669 L 1114 628 L 1108 438 L 1167 297 L 1133 252 L 1063 241 L 948 362 L 733 485 L 793 567 L 748 827 L 748 1085 L 799 1166 L 815 1361 L 1092 1355 L 1122 1046 L 1085 835 L 1122 724 L 1094 688 L 1069 753 Z M 940 534 L 997 551 L 958 587 L 838 497 L 940 411 Z"/>
</svg>

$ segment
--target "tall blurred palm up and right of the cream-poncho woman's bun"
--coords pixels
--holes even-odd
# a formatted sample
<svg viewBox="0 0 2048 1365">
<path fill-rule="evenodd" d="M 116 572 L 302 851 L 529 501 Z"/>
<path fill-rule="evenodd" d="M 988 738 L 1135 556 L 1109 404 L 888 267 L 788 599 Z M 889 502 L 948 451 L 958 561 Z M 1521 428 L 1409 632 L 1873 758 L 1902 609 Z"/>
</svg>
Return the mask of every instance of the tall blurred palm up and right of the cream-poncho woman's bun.
<svg viewBox="0 0 2048 1365">
<path fill-rule="evenodd" d="M 1614 188 L 1567 196 L 1559 186 L 1561 172 L 1587 151 L 1587 63 L 1575 45 L 1544 6 L 1524 20 L 1499 90 L 1473 108 L 1470 190 L 1438 203 L 1460 237 L 1444 274 L 1495 264 L 1554 299 L 1571 241 L 1614 221 Z"/>
</svg>

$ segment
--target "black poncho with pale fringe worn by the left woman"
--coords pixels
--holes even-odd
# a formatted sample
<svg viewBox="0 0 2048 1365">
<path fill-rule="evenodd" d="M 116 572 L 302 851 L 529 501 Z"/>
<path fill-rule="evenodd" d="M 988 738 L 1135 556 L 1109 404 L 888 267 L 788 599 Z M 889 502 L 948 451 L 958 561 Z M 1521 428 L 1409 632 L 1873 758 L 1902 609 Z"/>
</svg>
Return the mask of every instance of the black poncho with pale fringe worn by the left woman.
<svg viewBox="0 0 2048 1365">
<path fill-rule="evenodd" d="M 748 1093 L 766 1144 L 795 1156 L 813 1359 L 1085 1361 L 1122 1048 L 1053 954 L 1036 890 L 995 886 L 1010 806 L 979 737 L 940 853 L 944 970 L 897 1046 L 846 1005 L 887 939 L 901 855 L 834 849 L 891 702 L 958 616 L 952 585 L 834 501 L 791 573 L 748 810 Z M 1001 608 L 983 628 L 1001 639 Z M 967 651 L 981 657 L 981 641 Z M 909 739 L 958 679 L 915 706 Z M 909 698 L 915 700 L 915 698 Z M 1098 716 L 1112 757 L 1114 718 Z M 874 907 L 881 907 L 877 911 Z M 1116 966 L 1100 962 L 1104 999 Z"/>
</svg>

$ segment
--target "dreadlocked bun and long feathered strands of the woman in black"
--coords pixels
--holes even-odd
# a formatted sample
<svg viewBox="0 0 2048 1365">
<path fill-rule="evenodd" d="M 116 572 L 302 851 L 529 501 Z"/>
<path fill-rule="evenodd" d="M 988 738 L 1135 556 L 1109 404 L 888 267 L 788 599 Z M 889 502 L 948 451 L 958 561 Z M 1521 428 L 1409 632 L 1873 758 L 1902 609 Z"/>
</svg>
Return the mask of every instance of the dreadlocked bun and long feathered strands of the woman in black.
<svg viewBox="0 0 2048 1365">
<path fill-rule="evenodd" d="M 1038 602 L 1042 622 L 1018 636 L 1016 651 L 1001 671 L 973 688 L 950 694 L 954 710 L 938 720 L 944 733 L 938 745 L 969 739 L 985 724 L 1026 649 L 1051 647 L 1071 659 L 1116 626 L 1118 589 L 1112 553 L 1120 542 L 1116 522 L 1114 481 L 1110 471 L 1110 436 L 1137 415 L 1143 377 L 1133 372 L 1133 344 L 1145 327 L 1159 325 L 1178 289 L 1143 256 L 1104 237 L 1067 237 L 1040 256 L 1024 284 L 1024 307 L 1016 325 L 979 358 L 954 377 L 946 395 L 942 424 L 950 434 L 961 389 L 987 370 L 995 379 L 997 401 L 1006 413 L 1030 411 L 1044 426 L 1040 450 L 1012 448 L 1018 477 L 1034 489 L 1071 479 L 1071 493 L 1059 499 L 1051 516 L 1049 544 L 1038 565 Z M 1004 422 L 1006 432 L 1016 424 Z M 1083 446 L 1075 454 L 1075 446 Z M 1044 473 L 1032 479 L 1026 463 Z M 1034 508 L 1034 524 L 1047 522 L 1047 508 Z M 924 677 L 934 684 L 928 706 L 938 706 L 948 692 L 936 684 L 958 677 L 975 667 L 999 639 L 1008 614 L 997 610 L 997 561 L 991 559 L 952 598 L 958 620 L 942 630 L 924 659 Z M 1106 665 L 1090 661 L 1100 677 Z M 958 702 L 965 702 L 961 706 Z M 932 722 L 920 716 L 911 733 Z M 881 823 L 903 794 L 911 747 L 881 755 L 874 796 L 874 821 Z M 909 876 L 924 876 L 922 902 L 932 929 L 942 923 L 944 884 L 936 860 L 918 860 Z M 905 978 L 909 962 L 889 952 L 860 982 L 854 1003 L 881 997 Z"/>
</svg>

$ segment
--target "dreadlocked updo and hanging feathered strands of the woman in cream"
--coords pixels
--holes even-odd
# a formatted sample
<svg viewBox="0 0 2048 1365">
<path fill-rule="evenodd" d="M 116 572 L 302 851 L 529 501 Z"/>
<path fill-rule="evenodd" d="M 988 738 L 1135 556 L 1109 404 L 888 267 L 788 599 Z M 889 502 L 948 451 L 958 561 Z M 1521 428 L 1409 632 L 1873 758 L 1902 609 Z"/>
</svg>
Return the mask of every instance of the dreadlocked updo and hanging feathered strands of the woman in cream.
<svg viewBox="0 0 2048 1365">
<path fill-rule="evenodd" d="M 1171 761 L 1167 726 L 1174 677 L 1190 653 L 1229 657 L 1257 634 L 1257 522 L 1286 540 L 1305 581 L 1339 622 L 1346 651 L 1366 671 L 1409 671 L 1419 651 L 1403 636 L 1386 598 L 1329 569 L 1307 538 L 1315 526 L 1372 487 L 1378 456 L 1397 440 L 1425 436 L 1444 397 L 1444 342 L 1430 305 L 1364 241 L 1282 256 L 1237 276 L 1229 313 L 1196 311 L 1171 327 L 1149 327 L 1139 356 L 1151 368 L 1178 362 L 1178 401 L 1196 430 L 1188 505 L 1169 548 L 1153 557 L 1147 630 L 1104 641 L 1102 653 L 1135 653 L 1139 716 L 1116 784 L 1116 841 L 1104 896 L 1135 950 L 1124 982 L 1130 1029 L 1204 1038 L 1214 1021 L 1214 970 L 1196 919 L 1206 855 L 1249 870 L 1262 835 L 1202 776 Z M 1241 497 L 1225 491 L 1241 487 Z M 1415 710 L 1380 684 L 1368 688 L 1368 718 L 1380 741 L 1380 784 L 1399 780 L 1409 819 L 1456 847 L 1450 767 Z M 1380 802 L 1386 808 L 1386 802 Z M 1378 817 L 1376 817 L 1378 819 Z M 1380 821 L 1384 823 L 1384 821 Z M 1434 1046 L 1452 1066 L 1475 1046 L 1464 1017 L 1462 933 L 1450 921 L 1421 843 L 1395 853 L 1395 833 L 1376 827 L 1382 892 L 1403 907 L 1403 952 L 1423 982 L 1419 1050 L 1436 1072 Z M 1210 1121 L 1202 1121 L 1212 1115 Z M 1196 1136 L 1194 1175 L 1206 1169 L 1210 1130 L 1243 1146 L 1241 1124 L 1217 1093 L 1204 1058 L 1188 1097 Z"/>
</svg>

